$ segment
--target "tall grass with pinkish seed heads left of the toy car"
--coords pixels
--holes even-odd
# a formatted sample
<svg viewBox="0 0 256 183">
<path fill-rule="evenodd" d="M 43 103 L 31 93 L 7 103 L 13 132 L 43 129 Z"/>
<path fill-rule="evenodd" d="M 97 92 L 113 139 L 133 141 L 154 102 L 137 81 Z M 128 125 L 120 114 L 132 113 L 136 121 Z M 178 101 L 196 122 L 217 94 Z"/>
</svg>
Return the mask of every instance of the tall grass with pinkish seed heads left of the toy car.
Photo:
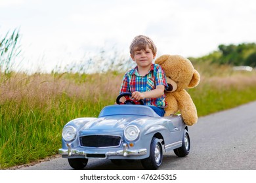
<svg viewBox="0 0 256 183">
<path fill-rule="evenodd" d="M 116 93 L 108 79 L 94 75 L 89 82 L 80 83 L 79 76 L 76 80 L 66 77 L 16 75 L 2 80 L 0 169 L 57 154 L 64 124 L 74 118 L 98 116 L 101 108 L 114 104 Z M 112 93 L 106 96 L 104 88 Z"/>
</svg>

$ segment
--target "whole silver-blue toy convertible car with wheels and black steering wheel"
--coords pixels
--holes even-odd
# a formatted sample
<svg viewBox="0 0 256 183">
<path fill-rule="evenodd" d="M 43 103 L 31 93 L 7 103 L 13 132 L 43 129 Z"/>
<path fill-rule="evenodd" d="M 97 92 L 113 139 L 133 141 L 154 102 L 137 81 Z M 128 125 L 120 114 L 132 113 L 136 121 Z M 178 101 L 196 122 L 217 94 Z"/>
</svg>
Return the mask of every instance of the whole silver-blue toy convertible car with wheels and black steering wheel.
<svg viewBox="0 0 256 183">
<path fill-rule="evenodd" d="M 72 168 L 83 169 L 88 159 L 98 158 L 141 159 L 144 169 L 158 169 L 163 152 L 188 155 L 190 137 L 181 115 L 160 117 L 131 93 L 118 95 L 117 104 L 104 107 L 98 118 L 77 118 L 64 126 L 59 154 Z"/>
</svg>

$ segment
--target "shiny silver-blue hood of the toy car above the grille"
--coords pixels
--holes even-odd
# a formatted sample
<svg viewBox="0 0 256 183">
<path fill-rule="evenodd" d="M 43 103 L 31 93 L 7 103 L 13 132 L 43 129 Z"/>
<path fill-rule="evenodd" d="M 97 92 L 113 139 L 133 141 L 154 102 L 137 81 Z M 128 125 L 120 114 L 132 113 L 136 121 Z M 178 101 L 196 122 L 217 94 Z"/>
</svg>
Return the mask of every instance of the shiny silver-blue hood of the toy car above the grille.
<svg viewBox="0 0 256 183">
<path fill-rule="evenodd" d="M 82 130 L 108 130 L 108 129 L 124 129 L 132 122 L 144 121 L 143 117 L 138 116 L 107 116 L 102 118 L 96 118 L 90 122 L 87 122 L 82 127 Z M 141 122 L 140 122 L 141 123 Z"/>
</svg>

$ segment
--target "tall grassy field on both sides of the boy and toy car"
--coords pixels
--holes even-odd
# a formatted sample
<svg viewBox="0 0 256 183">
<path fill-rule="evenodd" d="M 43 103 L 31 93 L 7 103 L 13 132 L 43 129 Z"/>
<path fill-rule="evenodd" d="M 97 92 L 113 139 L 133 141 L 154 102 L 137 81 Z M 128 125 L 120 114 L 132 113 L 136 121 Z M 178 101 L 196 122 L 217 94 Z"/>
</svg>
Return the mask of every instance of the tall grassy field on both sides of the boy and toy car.
<svg viewBox="0 0 256 183">
<path fill-rule="evenodd" d="M 194 65 L 202 76 L 188 90 L 198 116 L 256 100 L 256 73 L 230 67 Z M 98 116 L 112 105 L 123 73 L 95 75 L 0 73 L 0 169 L 53 156 L 61 147 L 66 122 Z"/>
</svg>

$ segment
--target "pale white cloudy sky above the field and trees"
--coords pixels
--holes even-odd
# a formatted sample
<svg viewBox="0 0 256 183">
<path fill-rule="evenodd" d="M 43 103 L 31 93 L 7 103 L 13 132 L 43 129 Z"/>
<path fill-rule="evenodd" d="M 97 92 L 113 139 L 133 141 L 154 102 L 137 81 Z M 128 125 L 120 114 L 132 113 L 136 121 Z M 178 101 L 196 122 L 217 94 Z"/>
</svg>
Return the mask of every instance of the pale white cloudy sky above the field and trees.
<svg viewBox="0 0 256 183">
<path fill-rule="evenodd" d="M 219 44 L 256 42 L 255 20 L 255 0 L 0 0 L 0 39 L 19 30 L 26 71 L 49 72 L 99 50 L 129 59 L 137 35 L 155 42 L 157 57 L 200 57 Z"/>
</svg>

